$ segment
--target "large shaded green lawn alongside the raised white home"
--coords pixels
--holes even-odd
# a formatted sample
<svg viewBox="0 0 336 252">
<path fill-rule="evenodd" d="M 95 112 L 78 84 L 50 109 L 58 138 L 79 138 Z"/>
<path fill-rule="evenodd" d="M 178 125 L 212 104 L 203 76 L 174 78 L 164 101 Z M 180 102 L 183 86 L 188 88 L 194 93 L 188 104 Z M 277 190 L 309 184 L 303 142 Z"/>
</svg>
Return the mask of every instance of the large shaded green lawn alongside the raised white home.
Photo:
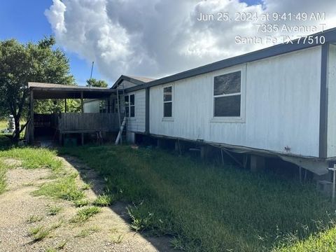
<svg viewBox="0 0 336 252">
<path fill-rule="evenodd" d="M 134 230 L 171 235 L 181 250 L 289 251 L 298 242 L 318 244 L 323 228 L 330 236 L 334 227 L 330 200 L 311 184 L 146 148 L 83 146 L 62 153 L 96 169 L 109 192 L 130 203 Z"/>
</svg>

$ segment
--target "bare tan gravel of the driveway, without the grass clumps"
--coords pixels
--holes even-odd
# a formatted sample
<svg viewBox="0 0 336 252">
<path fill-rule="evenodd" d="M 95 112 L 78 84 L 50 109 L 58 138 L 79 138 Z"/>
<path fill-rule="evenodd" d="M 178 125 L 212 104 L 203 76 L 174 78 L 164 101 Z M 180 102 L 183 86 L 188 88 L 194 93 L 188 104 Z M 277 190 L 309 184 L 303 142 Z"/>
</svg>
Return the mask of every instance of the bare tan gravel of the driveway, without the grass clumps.
<svg viewBox="0 0 336 252">
<path fill-rule="evenodd" d="M 92 183 L 92 189 L 85 190 L 87 198 L 97 198 L 103 187 L 97 174 L 75 158 L 61 159 L 66 169 L 79 172 L 79 186 L 84 183 L 82 178 Z M 8 170 L 9 190 L 0 195 L 0 251 L 172 251 L 168 238 L 144 237 L 130 230 L 125 205 L 120 203 L 103 207 L 85 223 L 71 223 L 78 210 L 73 203 L 31 195 L 39 185 L 52 181 L 50 175 L 48 169 Z M 62 207 L 62 211 L 49 215 L 52 206 Z M 29 219 L 35 220 L 29 223 Z M 41 225 L 54 228 L 45 239 L 34 242 L 29 229 Z"/>
</svg>

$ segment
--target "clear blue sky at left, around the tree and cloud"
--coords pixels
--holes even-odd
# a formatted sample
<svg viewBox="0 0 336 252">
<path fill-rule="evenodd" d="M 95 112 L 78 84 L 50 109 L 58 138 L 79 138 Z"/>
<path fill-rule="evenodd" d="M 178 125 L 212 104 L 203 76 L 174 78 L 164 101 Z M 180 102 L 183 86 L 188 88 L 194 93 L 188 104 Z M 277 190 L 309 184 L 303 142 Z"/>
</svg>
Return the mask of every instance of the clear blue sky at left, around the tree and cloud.
<svg viewBox="0 0 336 252">
<path fill-rule="evenodd" d="M 34 2 L 34 4 L 32 4 Z M 16 38 L 22 43 L 38 41 L 43 36 L 52 34 L 50 24 L 44 11 L 52 4 L 52 0 L 10 0 L 0 3 L 0 40 Z M 78 85 L 85 85 L 90 78 L 91 62 L 80 59 L 76 54 L 66 52 L 70 59 L 71 73 Z M 93 71 L 94 78 L 101 78 L 97 68 Z"/>
</svg>

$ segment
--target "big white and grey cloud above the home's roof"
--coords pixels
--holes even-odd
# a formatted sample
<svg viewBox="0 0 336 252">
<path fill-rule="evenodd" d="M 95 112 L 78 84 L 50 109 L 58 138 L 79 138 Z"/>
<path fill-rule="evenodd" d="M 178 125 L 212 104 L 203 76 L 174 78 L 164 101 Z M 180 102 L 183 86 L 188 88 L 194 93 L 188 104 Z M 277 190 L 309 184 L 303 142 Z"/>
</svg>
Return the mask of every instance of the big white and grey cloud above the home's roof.
<svg viewBox="0 0 336 252">
<path fill-rule="evenodd" d="M 264 0 L 255 6 L 238 0 L 53 0 L 45 15 L 59 45 L 88 62 L 93 60 L 100 73 L 113 81 L 120 74 L 165 76 L 269 46 L 235 43 L 238 35 L 267 35 L 256 32 L 255 22 L 202 22 L 197 17 L 201 12 L 213 13 L 216 19 L 220 12 L 235 18 L 237 12 L 260 16 L 274 11 L 325 12 L 325 28 L 336 26 L 334 0 Z M 318 22 L 268 23 L 316 25 Z"/>
</svg>

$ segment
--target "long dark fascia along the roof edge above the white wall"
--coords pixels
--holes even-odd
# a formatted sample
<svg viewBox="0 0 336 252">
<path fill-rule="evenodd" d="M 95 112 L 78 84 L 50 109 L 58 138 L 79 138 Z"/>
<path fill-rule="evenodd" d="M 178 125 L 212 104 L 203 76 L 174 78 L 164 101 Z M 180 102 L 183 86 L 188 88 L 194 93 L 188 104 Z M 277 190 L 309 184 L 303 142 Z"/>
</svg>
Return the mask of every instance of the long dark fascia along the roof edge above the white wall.
<svg viewBox="0 0 336 252">
<path fill-rule="evenodd" d="M 311 34 L 308 36 L 324 36 L 325 37 L 325 43 L 329 42 L 336 42 L 336 28 L 328 29 L 325 31 L 318 32 L 316 34 Z M 263 48 L 261 50 L 256 50 L 254 52 L 248 52 L 244 55 L 239 55 L 236 57 L 231 57 L 228 59 L 223 59 L 218 62 L 214 62 L 211 64 L 207 64 L 204 66 L 199 66 L 195 69 L 190 69 L 187 71 L 183 71 L 181 73 L 175 73 L 171 76 L 167 76 L 164 78 L 160 78 L 158 80 L 153 80 L 151 82 L 148 82 L 144 85 L 141 85 L 139 87 L 129 87 L 125 89 L 125 92 L 132 92 L 135 90 L 141 90 L 146 87 L 153 87 L 155 85 L 162 85 L 165 83 L 174 82 L 176 80 L 182 80 L 184 78 L 190 78 L 193 76 L 198 76 L 203 73 L 209 73 L 211 71 L 216 71 L 220 69 L 225 69 L 230 66 L 235 66 L 237 64 L 244 64 L 247 62 L 253 62 L 260 59 L 265 59 L 267 57 L 274 57 L 277 55 L 283 55 L 288 52 L 295 52 L 297 50 L 302 50 L 306 48 L 311 48 L 317 45 L 321 45 L 319 39 L 316 43 L 316 40 L 314 40 L 314 43 L 302 43 L 303 39 L 301 39 L 300 43 L 298 42 L 298 39 L 293 40 L 293 43 L 282 43 L 279 45 L 273 45 L 269 48 Z M 307 41 L 306 41 L 307 42 Z"/>
</svg>

